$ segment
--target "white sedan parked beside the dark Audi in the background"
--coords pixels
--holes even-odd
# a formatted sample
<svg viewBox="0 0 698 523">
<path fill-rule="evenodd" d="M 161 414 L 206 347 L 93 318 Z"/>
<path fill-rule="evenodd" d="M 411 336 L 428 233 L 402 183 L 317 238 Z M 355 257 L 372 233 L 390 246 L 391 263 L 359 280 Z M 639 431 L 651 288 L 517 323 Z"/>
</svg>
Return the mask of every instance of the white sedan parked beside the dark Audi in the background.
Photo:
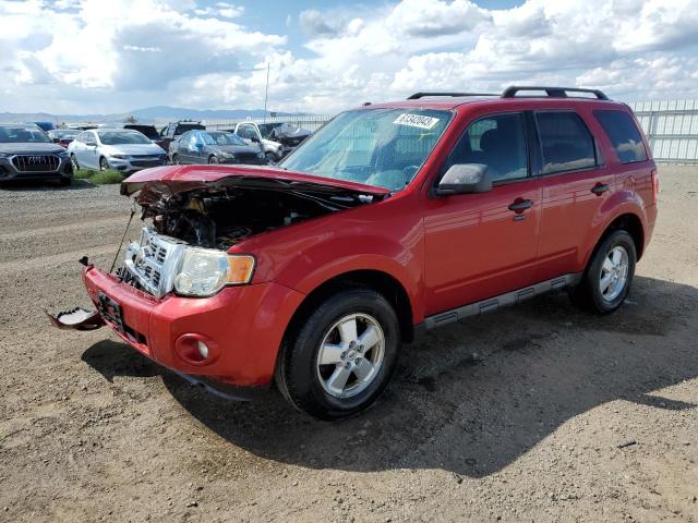
<svg viewBox="0 0 698 523">
<path fill-rule="evenodd" d="M 68 146 L 73 169 L 116 169 L 131 173 L 167 165 L 167 154 L 144 134 L 128 129 L 93 129 Z"/>
</svg>

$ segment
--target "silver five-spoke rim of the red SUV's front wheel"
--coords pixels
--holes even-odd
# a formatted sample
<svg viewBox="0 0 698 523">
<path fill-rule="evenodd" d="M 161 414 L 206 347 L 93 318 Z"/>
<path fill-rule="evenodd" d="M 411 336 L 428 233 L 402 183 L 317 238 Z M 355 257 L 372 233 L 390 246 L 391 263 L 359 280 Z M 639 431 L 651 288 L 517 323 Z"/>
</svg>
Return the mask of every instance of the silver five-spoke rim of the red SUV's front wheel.
<svg viewBox="0 0 698 523">
<path fill-rule="evenodd" d="M 335 323 L 317 351 L 317 378 L 325 392 L 352 398 L 376 378 L 385 356 L 385 335 L 368 314 L 349 314 Z"/>
</svg>

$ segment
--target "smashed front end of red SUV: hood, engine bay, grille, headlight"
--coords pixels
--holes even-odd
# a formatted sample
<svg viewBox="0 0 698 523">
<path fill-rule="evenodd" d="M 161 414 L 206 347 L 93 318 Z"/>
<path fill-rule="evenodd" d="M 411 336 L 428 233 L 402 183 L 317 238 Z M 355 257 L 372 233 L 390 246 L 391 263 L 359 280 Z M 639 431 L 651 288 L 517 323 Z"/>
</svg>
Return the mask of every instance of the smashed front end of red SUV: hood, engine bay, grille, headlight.
<svg viewBox="0 0 698 523">
<path fill-rule="evenodd" d="M 155 299 L 170 293 L 205 297 L 227 285 L 249 284 L 256 260 L 240 245 L 249 238 L 369 205 L 389 194 L 280 169 L 149 169 L 122 183 L 123 195 L 136 194 L 144 226 L 140 239 L 127 244 L 117 282 Z M 105 318 L 113 326 L 111 311 L 106 314 L 96 304 L 98 313 L 76 308 L 49 316 L 62 329 L 96 329 Z"/>
</svg>

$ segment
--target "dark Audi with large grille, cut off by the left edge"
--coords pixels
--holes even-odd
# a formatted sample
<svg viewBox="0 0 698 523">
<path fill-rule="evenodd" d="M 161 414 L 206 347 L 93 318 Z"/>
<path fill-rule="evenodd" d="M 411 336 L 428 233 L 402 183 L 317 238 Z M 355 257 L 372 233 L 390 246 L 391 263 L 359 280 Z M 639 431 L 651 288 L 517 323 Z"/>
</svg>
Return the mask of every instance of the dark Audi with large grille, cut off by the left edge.
<svg viewBox="0 0 698 523">
<path fill-rule="evenodd" d="M 70 185 L 68 153 L 34 124 L 0 124 L 0 183 L 10 180 L 57 180 Z"/>
</svg>

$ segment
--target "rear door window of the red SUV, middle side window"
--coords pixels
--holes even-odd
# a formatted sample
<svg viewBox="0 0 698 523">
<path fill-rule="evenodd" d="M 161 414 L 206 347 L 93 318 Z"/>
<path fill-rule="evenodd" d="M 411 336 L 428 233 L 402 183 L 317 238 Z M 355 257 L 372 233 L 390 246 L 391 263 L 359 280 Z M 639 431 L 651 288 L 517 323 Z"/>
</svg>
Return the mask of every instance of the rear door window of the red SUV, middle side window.
<svg viewBox="0 0 698 523">
<path fill-rule="evenodd" d="M 537 112 L 543 149 L 543 174 L 589 169 L 597 165 L 591 133 L 576 112 Z"/>
</svg>

